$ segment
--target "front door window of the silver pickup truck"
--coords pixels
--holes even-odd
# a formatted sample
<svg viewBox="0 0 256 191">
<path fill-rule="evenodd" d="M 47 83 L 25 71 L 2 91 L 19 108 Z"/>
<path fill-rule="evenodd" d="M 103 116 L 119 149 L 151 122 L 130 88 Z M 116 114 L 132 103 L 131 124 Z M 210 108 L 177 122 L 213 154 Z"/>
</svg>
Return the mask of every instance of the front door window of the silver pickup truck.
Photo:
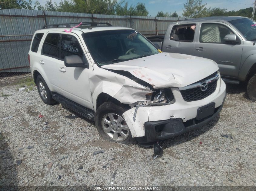
<svg viewBox="0 0 256 191">
<path fill-rule="evenodd" d="M 203 23 L 200 29 L 201 43 L 225 43 L 224 37 L 234 34 L 228 27 L 222 24 Z"/>
</svg>

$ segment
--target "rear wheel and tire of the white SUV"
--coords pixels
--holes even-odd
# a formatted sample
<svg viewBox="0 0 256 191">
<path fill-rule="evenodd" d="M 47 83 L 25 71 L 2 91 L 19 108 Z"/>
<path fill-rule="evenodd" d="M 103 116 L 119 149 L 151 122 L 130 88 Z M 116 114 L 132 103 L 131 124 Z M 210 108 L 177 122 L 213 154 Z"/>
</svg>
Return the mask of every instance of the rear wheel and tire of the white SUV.
<svg viewBox="0 0 256 191">
<path fill-rule="evenodd" d="M 56 103 L 56 101 L 52 99 L 52 93 L 41 75 L 38 75 L 36 78 L 36 86 L 38 93 L 44 103 L 48 105 L 53 105 Z"/>
</svg>

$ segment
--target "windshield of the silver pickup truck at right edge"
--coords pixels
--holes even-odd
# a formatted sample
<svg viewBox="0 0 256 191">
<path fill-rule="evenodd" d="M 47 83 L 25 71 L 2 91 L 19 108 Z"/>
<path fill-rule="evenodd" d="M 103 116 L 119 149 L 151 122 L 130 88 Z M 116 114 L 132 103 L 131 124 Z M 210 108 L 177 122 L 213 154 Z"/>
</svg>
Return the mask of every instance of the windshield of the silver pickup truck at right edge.
<svg viewBox="0 0 256 191">
<path fill-rule="evenodd" d="M 252 41 L 255 39 L 256 21 L 249 18 L 244 18 L 244 19 L 237 19 L 229 22 L 233 24 L 244 35 L 244 37 L 248 41 Z"/>
</svg>

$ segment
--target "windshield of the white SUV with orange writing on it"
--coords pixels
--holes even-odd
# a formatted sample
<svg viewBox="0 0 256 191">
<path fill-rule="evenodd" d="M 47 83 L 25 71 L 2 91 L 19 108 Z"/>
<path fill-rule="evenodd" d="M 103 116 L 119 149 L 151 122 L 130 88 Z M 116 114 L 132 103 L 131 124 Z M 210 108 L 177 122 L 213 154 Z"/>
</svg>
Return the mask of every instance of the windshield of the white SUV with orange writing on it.
<svg viewBox="0 0 256 191">
<path fill-rule="evenodd" d="M 84 33 L 91 56 L 99 65 L 157 54 L 158 49 L 135 30 L 104 30 Z"/>
</svg>

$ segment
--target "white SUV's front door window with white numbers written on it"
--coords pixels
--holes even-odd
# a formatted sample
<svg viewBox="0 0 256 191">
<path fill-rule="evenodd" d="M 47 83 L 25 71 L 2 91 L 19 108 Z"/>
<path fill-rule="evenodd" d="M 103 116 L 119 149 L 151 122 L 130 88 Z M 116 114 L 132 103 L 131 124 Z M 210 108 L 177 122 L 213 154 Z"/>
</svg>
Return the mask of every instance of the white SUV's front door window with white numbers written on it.
<svg viewBox="0 0 256 191">
<path fill-rule="evenodd" d="M 78 42 L 78 40 L 71 35 L 62 34 L 61 38 L 61 59 L 65 56 L 78 55 L 83 57 L 83 50 Z"/>
</svg>

